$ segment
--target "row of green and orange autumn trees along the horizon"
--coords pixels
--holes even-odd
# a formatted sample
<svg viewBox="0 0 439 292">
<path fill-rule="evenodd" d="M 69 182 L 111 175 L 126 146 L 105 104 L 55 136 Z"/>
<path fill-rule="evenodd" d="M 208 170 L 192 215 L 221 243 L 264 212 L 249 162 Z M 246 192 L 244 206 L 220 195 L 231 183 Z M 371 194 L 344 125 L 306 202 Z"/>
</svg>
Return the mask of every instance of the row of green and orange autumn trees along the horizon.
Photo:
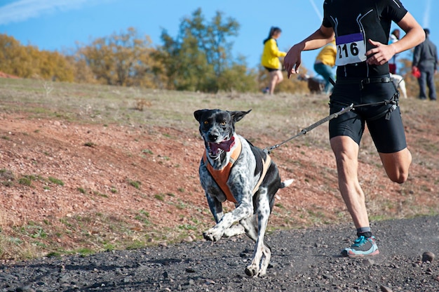
<svg viewBox="0 0 439 292">
<path fill-rule="evenodd" d="M 76 44 L 66 53 L 40 51 L 0 34 L 0 72 L 22 78 L 76 83 L 140 86 L 180 91 L 261 92 L 269 75 L 263 67 L 249 68 L 245 57 L 231 53 L 239 23 L 217 12 L 204 18 L 201 8 L 180 22 L 177 36 L 166 29 L 161 45 L 133 27 L 102 36 L 90 44 Z M 416 95 L 417 80 L 410 60 L 400 60 L 409 95 Z M 306 68 L 302 67 L 302 71 Z M 283 74 L 286 77 L 285 72 Z M 306 82 L 286 79 L 276 92 L 306 93 Z"/>
</svg>

